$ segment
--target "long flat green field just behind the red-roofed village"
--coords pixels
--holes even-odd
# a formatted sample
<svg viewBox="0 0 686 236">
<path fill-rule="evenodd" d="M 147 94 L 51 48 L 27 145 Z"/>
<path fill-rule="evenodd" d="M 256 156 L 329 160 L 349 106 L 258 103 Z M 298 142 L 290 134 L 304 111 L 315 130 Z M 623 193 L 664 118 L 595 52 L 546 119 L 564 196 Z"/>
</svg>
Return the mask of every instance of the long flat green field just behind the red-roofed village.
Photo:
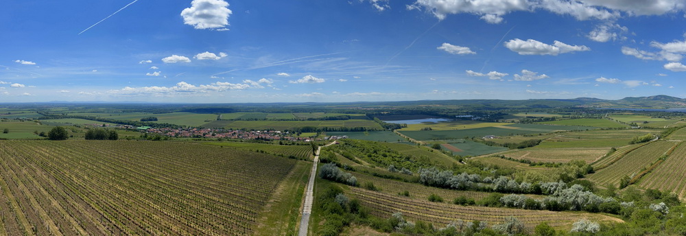
<svg viewBox="0 0 686 236">
<path fill-rule="evenodd" d="M 202 126 L 206 128 L 226 128 L 234 130 L 288 130 L 305 126 L 382 129 L 379 123 L 366 119 L 350 119 L 346 121 L 212 121 L 205 123 Z"/>
</svg>

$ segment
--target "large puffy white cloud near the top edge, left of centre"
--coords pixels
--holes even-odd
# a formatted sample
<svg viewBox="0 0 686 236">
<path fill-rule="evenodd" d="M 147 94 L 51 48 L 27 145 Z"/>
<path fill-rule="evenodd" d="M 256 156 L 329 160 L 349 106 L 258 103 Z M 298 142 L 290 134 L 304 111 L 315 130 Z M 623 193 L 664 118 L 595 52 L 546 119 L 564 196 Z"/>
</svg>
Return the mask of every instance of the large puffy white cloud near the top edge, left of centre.
<svg viewBox="0 0 686 236">
<path fill-rule="evenodd" d="M 196 29 L 228 30 L 228 3 L 223 0 L 193 0 L 191 7 L 181 11 L 183 22 Z"/>
</svg>

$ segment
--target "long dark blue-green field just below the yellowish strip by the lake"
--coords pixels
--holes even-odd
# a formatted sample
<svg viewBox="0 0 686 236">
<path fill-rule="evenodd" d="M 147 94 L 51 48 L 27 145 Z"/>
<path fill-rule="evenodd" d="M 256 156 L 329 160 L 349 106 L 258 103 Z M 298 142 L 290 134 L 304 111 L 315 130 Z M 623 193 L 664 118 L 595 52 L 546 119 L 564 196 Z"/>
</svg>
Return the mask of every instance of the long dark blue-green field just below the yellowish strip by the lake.
<svg viewBox="0 0 686 236">
<path fill-rule="evenodd" d="M 448 139 L 464 139 L 465 137 L 485 137 L 486 135 L 495 135 L 498 137 L 523 135 L 523 134 L 543 134 L 549 132 L 563 131 L 563 130 L 587 130 L 589 127 L 583 126 L 552 126 L 541 124 L 512 124 L 506 126 L 473 128 L 467 130 L 421 130 L 421 131 L 404 131 L 399 130 L 402 134 L 412 139 L 421 141 L 430 140 L 448 140 Z"/>
</svg>

